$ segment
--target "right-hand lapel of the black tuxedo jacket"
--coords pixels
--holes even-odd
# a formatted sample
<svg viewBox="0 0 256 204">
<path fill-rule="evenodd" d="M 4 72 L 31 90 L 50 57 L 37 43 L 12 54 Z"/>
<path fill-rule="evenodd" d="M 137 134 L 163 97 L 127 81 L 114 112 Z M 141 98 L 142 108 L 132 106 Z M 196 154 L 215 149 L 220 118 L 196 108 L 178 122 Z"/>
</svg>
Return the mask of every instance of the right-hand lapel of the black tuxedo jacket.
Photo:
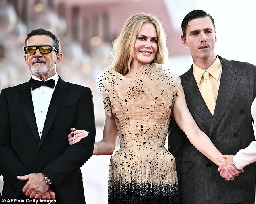
<svg viewBox="0 0 256 204">
<path fill-rule="evenodd" d="M 39 147 L 41 146 L 46 135 L 48 134 L 48 131 L 49 131 L 50 127 L 52 126 L 52 122 L 56 117 L 59 107 L 61 106 L 61 103 L 67 94 L 67 89 L 66 89 L 65 85 L 66 85 L 65 82 L 59 77 L 59 80 L 56 84 L 55 90 L 52 94 L 52 99 L 50 101 L 50 105 L 49 105 L 46 119 L 44 122 L 44 129 L 42 132 Z"/>
</svg>

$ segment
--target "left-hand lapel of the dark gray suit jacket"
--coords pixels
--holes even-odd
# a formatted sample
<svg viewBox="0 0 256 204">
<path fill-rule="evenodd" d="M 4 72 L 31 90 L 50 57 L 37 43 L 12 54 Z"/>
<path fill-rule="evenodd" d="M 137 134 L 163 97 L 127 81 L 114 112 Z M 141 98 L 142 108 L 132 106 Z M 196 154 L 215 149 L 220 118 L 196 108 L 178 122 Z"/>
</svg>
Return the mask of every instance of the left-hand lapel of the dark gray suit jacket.
<svg viewBox="0 0 256 204">
<path fill-rule="evenodd" d="M 199 115 L 202 120 L 211 126 L 212 124 L 212 114 L 210 113 L 202 95 L 197 86 L 197 82 L 195 81 L 195 77 L 193 75 L 193 65 L 187 74 L 183 75 L 181 78 L 181 83 L 183 85 L 187 106 L 189 107 L 189 111 L 192 115 Z"/>
</svg>

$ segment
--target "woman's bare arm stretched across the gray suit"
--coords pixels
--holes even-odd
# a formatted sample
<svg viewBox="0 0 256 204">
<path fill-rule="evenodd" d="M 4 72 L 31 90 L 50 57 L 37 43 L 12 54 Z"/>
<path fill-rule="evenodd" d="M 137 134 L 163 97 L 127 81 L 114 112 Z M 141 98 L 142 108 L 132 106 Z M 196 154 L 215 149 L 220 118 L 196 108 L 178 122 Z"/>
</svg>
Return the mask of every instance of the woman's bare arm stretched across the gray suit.
<svg viewBox="0 0 256 204">
<path fill-rule="evenodd" d="M 178 89 L 178 97 L 172 113 L 176 123 L 185 132 L 191 144 L 216 165 L 224 167 L 226 163 L 222 153 L 212 144 L 210 138 L 198 128 L 189 112 L 182 87 Z"/>
</svg>

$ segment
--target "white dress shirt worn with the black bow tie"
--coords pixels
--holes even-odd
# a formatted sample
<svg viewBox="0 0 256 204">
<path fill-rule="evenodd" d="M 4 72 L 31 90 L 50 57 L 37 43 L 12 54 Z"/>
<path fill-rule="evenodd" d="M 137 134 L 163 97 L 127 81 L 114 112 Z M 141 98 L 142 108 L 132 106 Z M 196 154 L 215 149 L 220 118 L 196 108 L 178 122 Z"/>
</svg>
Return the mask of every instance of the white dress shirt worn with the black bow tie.
<svg viewBox="0 0 256 204">
<path fill-rule="evenodd" d="M 39 78 L 36 78 L 35 76 L 32 76 L 32 78 L 38 81 L 42 81 Z M 40 139 L 42 136 L 44 122 L 50 105 L 50 100 L 52 99 L 52 94 L 58 82 L 59 76 L 58 74 L 55 74 L 54 76 L 48 78 L 46 81 L 50 79 L 55 80 L 55 86 L 53 89 L 47 86 L 41 86 L 36 88 L 35 90 L 31 89 L 34 113 L 36 116 L 36 125 L 38 128 Z"/>
</svg>

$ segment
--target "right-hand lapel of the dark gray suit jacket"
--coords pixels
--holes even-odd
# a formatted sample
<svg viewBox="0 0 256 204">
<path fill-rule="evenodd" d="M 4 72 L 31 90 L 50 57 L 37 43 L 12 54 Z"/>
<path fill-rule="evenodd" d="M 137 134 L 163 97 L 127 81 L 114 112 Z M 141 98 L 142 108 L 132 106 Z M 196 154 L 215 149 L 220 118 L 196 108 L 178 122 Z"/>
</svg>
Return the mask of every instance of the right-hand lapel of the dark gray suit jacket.
<svg viewBox="0 0 256 204">
<path fill-rule="evenodd" d="M 220 78 L 220 87 L 214 110 L 214 116 L 212 119 L 210 135 L 214 132 L 216 126 L 226 113 L 241 78 L 241 72 L 235 68 L 232 62 L 229 62 L 223 58 L 221 58 L 221 60 L 223 64 L 222 74 Z"/>
</svg>

